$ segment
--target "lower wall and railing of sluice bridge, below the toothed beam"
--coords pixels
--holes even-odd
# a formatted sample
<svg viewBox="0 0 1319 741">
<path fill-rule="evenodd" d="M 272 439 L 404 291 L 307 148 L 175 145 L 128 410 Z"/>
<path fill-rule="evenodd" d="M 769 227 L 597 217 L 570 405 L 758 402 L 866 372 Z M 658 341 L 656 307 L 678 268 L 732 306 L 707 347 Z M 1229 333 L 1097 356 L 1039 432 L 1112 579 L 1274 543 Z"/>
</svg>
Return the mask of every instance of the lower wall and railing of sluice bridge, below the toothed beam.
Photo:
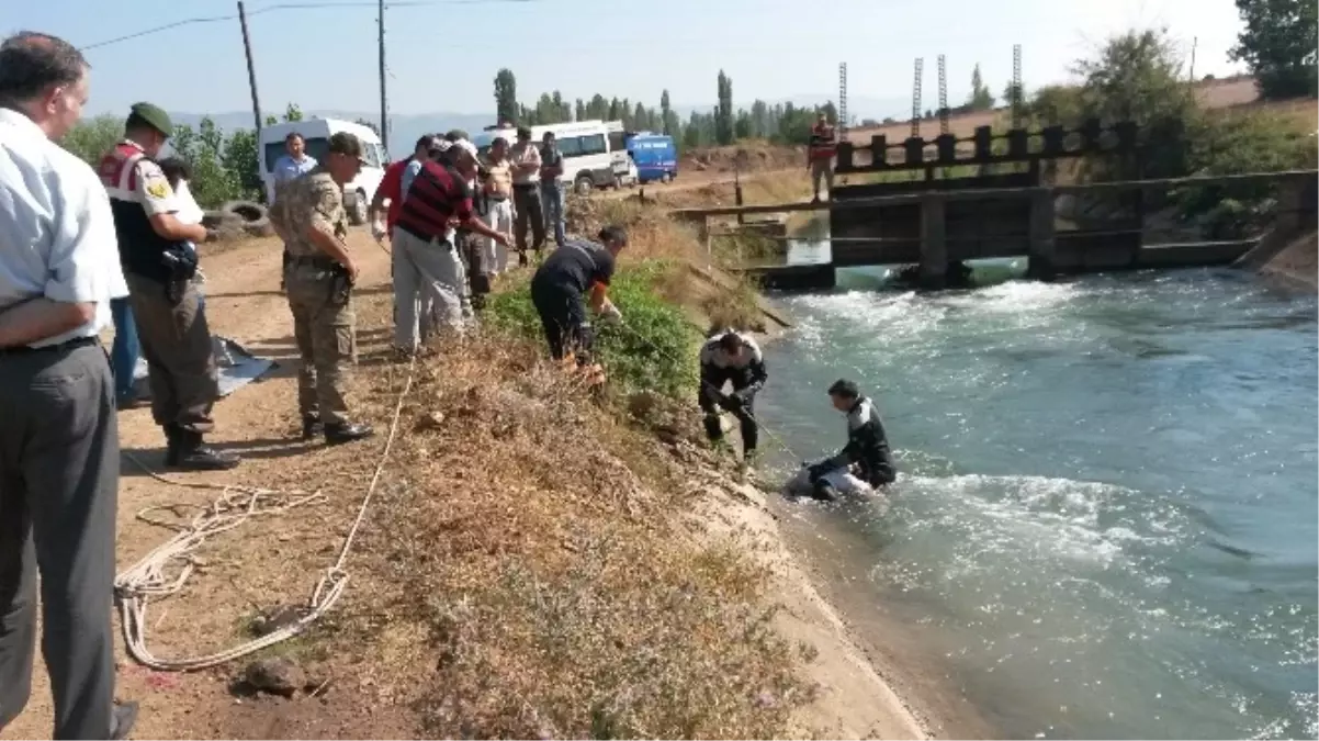
<svg viewBox="0 0 1319 741">
<path fill-rule="evenodd" d="M 1029 174 L 976 178 L 979 187 L 947 187 L 958 181 L 874 183 L 836 189 L 828 203 L 778 203 L 679 208 L 673 216 L 695 223 L 711 239 L 710 219 L 752 214 L 824 211 L 832 260 L 823 265 L 748 269 L 773 287 L 830 287 L 836 268 L 918 264 L 922 285 L 943 286 L 948 262 L 1028 257 L 1029 273 L 1049 280 L 1142 268 L 1223 265 L 1262 241 L 1290 239 L 1319 227 L 1319 170 L 1249 173 L 1037 186 Z M 1148 240 L 1148 203 L 1191 187 L 1275 186 L 1277 208 L 1269 232 L 1249 239 Z M 1157 194 L 1157 198 L 1150 195 Z M 1116 204 L 1099 225 L 1078 223 L 1075 206 L 1087 199 Z M 1071 208 L 1068 208 L 1068 204 Z M 1083 222 L 1083 220 L 1082 220 Z"/>
</svg>

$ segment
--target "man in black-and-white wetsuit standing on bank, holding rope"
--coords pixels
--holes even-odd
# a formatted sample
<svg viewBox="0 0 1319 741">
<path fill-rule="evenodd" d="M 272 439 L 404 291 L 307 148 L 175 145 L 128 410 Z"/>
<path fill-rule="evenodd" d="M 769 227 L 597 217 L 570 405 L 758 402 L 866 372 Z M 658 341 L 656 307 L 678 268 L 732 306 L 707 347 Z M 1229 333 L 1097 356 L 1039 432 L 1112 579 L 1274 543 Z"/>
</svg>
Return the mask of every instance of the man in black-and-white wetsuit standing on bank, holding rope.
<svg viewBox="0 0 1319 741">
<path fill-rule="evenodd" d="M 706 413 L 706 436 L 711 443 L 720 443 L 724 429 L 719 409 L 732 413 L 741 425 L 743 460 L 748 463 L 756 456 L 758 436 L 753 410 L 756 392 L 765 386 L 768 378 L 765 356 L 751 336 L 728 330 L 710 338 L 700 348 L 698 403 Z M 724 384 L 732 384 L 732 393 L 724 393 Z"/>
</svg>

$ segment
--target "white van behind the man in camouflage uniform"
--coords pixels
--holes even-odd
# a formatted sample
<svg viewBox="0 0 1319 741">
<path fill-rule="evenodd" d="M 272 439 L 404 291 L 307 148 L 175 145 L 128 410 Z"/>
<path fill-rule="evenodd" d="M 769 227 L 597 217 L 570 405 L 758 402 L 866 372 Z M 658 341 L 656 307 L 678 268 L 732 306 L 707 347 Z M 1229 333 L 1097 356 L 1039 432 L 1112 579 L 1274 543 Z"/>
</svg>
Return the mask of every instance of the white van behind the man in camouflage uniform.
<svg viewBox="0 0 1319 741">
<path fill-rule="evenodd" d="M 389 154 L 385 153 L 385 146 L 380 142 L 376 132 L 361 124 L 340 119 L 307 119 L 264 127 L 257 158 L 261 165 L 261 181 L 265 182 L 266 203 L 274 202 L 274 163 L 286 154 L 284 140 L 293 132 L 302 134 L 307 142 L 307 154 L 315 157 L 318 162 L 324 161 L 332 134 L 347 132 L 361 141 L 361 157 L 367 162 L 361 166 L 357 177 L 344 185 L 343 206 L 348 211 L 348 220 L 352 224 L 365 224 L 371 199 L 375 198 L 376 189 L 380 187 L 380 181 L 385 177 L 385 166 L 389 165 Z"/>
</svg>

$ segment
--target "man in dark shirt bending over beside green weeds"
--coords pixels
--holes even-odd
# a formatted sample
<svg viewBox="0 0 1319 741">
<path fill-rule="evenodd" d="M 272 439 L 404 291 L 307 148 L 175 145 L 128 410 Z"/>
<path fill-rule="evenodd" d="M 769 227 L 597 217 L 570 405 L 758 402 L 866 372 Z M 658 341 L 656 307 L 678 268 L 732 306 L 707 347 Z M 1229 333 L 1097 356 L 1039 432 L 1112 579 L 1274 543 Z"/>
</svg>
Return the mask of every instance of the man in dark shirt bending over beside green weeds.
<svg viewBox="0 0 1319 741">
<path fill-rule="evenodd" d="M 591 293 L 591 309 L 600 316 L 620 320 L 623 314 L 609 301 L 607 291 L 613 278 L 613 260 L 628 244 L 623 227 L 605 227 L 599 243 L 570 239 L 555 249 L 532 278 L 532 303 L 536 305 L 550 355 L 555 360 L 572 351 L 578 364 L 591 360 L 595 334 L 586 315 L 583 297 Z"/>
</svg>

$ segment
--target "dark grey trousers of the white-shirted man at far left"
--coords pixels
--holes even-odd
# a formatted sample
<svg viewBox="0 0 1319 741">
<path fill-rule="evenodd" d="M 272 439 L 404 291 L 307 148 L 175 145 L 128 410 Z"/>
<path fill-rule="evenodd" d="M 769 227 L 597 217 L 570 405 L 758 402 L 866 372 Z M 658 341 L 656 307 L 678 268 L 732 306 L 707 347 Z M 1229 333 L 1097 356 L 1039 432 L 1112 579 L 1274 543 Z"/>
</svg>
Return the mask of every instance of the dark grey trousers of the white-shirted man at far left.
<svg viewBox="0 0 1319 741">
<path fill-rule="evenodd" d="M 106 351 L 84 340 L 0 352 L 0 737 L 32 690 L 40 589 L 54 737 L 104 741 L 115 699 L 119 496 Z"/>
</svg>

